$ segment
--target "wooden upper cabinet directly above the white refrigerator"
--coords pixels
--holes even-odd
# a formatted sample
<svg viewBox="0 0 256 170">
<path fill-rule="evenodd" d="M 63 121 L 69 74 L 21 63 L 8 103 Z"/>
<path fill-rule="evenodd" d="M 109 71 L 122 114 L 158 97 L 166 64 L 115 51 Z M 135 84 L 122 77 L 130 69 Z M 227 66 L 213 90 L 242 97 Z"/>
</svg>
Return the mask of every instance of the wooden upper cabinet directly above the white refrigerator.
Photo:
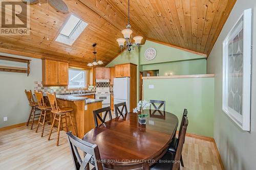
<svg viewBox="0 0 256 170">
<path fill-rule="evenodd" d="M 137 65 L 133 63 L 115 65 L 115 77 L 131 77 L 134 69 L 137 69 Z"/>
</svg>

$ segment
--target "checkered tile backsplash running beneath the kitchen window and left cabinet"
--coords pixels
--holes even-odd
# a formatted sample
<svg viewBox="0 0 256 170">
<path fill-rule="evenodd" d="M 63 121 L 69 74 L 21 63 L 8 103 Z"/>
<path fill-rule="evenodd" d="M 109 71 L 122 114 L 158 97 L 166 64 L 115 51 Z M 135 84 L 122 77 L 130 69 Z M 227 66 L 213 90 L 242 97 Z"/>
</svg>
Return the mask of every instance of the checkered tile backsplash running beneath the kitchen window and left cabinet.
<svg viewBox="0 0 256 170">
<path fill-rule="evenodd" d="M 42 91 L 44 93 L 46 92 L 56 92 L 56 93 L 70 93 L 70 92 L 79 92 L 79 90 L 70 90 L 68 89 L 67 86 L 52 86 L 52 87 L 44 87 L 42 85 L 42 82 L 40 81 L 35 81 L 34 82 L 34 90 L 36 91 Z M 90 92 L 95 92 L 96 91 L 96 87 L 92 87 L 90 88 L 90 90 L 86 90 L 86 91 L 90 91 Z"/>
</svg>

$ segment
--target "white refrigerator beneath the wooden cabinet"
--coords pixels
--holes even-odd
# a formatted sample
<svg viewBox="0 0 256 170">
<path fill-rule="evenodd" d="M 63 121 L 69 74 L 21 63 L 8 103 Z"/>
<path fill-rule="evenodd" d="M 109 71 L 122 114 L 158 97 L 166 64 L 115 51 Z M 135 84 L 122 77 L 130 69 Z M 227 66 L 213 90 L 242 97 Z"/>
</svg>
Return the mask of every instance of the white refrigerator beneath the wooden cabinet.
<svg viewBox="0 0 256 170">
<path fill-rule="evenodd" d="M 114 78 L 114 104 L 126 102 L 127 111 L 130 112 L 130 78 Z"/>
</svg>

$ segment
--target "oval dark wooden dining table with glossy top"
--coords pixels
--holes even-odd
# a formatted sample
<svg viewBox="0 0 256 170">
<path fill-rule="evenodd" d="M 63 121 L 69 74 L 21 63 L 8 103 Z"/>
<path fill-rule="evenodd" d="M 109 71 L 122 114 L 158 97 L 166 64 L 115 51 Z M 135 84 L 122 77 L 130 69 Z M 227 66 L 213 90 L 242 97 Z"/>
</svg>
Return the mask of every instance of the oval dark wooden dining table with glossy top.
<svg viewBox="0 0 256 170">
<path fill-rule="evenodd" d="M 98 145 L 104 169 L 150 169 L 167 151 L 176 134 L 176 115 L 158 110 L 143 110 L 146 124 L 129 112 L 89 131 L 82 140 Z"/>
</svg>

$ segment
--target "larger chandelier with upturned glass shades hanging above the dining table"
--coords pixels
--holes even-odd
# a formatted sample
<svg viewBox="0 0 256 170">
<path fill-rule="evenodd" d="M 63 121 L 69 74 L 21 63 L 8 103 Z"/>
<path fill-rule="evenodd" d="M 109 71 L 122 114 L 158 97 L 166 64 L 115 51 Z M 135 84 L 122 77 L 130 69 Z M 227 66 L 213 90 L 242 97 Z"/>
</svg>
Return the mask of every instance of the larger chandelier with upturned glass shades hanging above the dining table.
<svg viewBox="0 0 256 170">
<path fill-rule="evenodd" d="M 133 37 L 134 42 L 132 42 L 132 33 L 133 31 L 131 30 L 131 25 L 130 25 L 130 0 L 128 0 L 128 24 L 126 25 L 126 29 L 122 30 L 121 33 L 123 34 L 124 38 L 118 38 L 116 41 L 118 42 L 118 45 L 121 48 L 121 51 L 123 49 L 123 46 L 127 48 L 129 52 L 131 52 L 132 48 L 134 49 L 135 46 L 139 48 L 141 40 L 143 37 L 141 36 L 136 36 Z M 130 38 L 131 37 L 131 38 Z M 126 44 L 124 45 L 124 43 Z"/>
</svg>

